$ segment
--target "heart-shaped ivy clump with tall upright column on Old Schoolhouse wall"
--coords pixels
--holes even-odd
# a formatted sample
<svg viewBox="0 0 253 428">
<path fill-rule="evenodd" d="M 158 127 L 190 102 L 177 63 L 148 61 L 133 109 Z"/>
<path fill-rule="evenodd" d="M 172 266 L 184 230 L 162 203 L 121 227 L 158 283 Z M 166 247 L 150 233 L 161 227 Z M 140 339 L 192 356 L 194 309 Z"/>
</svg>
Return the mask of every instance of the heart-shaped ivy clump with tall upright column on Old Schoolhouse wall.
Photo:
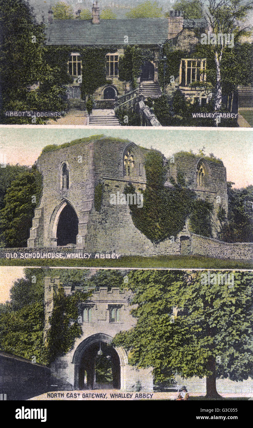
<svg viewBox="0 0 253 428">
<path fill-rule="evenodd" d="M 167 168 L 164 157 L 150 150 L 145 161 L 146 189 L 143 192 L 143 208 L 129 205 L 134 225 L 153 243 L 176 236 L 184 227 L 191 211 L 194 192 L 176 184 L 165 187 Z M 135 193 L 129 183 L 125 194 Z"/>
</svg>

